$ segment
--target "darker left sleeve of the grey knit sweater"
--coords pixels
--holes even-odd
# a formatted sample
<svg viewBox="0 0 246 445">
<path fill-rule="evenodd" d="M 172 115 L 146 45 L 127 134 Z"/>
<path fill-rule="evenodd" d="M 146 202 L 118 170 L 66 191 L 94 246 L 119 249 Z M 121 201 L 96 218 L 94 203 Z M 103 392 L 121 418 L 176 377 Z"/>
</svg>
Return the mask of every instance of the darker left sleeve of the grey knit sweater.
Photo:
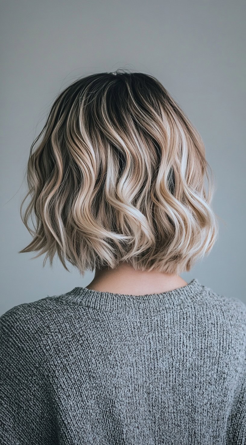
<svg viewBox="0 0 246 445">
<path fill-rule="evenodd" d="M 0 443 L 57 443 L 35 320 L 28 303 L 0 317 Z"/>
</svg>

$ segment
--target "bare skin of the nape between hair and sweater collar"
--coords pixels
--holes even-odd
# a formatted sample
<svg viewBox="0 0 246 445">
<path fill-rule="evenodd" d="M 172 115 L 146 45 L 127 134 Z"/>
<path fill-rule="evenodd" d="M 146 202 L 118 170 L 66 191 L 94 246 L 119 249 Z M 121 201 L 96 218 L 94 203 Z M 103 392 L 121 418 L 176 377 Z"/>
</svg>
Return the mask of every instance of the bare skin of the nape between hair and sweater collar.
<svg viewBox="0 0 246 445">
<path fill-rule="evenodd" d="M 146 295 L 172 291 L 186 284 L 179 275 L 136 271 L 129 264 L 121 263 L 115 269 L 96 270 L 94 279 L 86 287 L 94 291 L 115 294 Z"/>
</svg>

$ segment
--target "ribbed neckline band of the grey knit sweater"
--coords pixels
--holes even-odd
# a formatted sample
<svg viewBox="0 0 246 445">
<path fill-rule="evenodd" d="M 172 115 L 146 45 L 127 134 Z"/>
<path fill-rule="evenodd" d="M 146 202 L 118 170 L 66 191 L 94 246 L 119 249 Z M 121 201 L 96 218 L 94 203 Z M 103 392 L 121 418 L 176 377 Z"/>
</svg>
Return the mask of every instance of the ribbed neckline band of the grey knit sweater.
<svg viewBox="0 0 246 445">
<path fill-rule="evenodd" d="M 127 295 L 107 291 L 95 291 L 87 287 L 75 287 L 63 299 L 71 303 L 79 303 L 106 312 L 118 312 L 142 309 L 162 309 L 163 307 L 180 307 L 182 303 L 190 303 L 199 299 L 203 286 L 194 278 L 185 286 L 171 291 L 145 294 Z"/>
</svg>

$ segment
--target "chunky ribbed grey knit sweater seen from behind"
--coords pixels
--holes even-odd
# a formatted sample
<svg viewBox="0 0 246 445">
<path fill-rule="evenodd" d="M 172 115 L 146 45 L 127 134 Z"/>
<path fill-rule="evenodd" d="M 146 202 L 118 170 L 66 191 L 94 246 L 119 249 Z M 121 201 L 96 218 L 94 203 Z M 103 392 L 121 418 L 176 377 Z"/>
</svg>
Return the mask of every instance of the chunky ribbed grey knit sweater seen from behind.
<svg viewBox="0 0 246 445">
<path fill-rule="evenodd" d="M 246 305 L 193 279 L 0 317 L 0 445 L 246 444 Z"/>
</svg>

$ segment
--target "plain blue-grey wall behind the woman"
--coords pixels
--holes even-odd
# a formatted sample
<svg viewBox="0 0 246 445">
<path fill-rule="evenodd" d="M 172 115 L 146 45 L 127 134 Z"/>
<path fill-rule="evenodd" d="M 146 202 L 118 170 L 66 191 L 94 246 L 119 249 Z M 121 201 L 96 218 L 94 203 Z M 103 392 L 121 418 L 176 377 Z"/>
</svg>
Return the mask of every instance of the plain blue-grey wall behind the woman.
<svg viewBox="0 0 246 445">
<path fill-rule="evenodd" d="M 245 294 L 245 1 L 8 0 L 1 6 L 1 314 L 58 295 L 84 278 L 44 255 L 20 219 L 30 146 L 60 89 L 80 76 L 127 68 L 157 77 L 190 117 L 216 177 L 220 218 L 212 252 L 186 281 Z"/>
</svg>

